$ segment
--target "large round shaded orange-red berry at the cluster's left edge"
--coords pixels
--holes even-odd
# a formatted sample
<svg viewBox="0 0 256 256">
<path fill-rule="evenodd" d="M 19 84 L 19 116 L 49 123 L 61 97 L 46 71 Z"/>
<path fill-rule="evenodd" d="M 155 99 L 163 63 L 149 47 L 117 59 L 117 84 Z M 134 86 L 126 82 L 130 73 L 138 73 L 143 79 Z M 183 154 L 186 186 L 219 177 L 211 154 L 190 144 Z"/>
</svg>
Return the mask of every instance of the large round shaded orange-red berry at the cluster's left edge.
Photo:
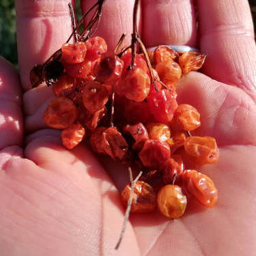
<svg viewBox="0 0 256 256">
<path fill-rule="evenodd" d="M 77 111 L 72 100 L 66 97 L 53 99 L 44 111 L 44 122 L 51 128 L 65 129 L 74 123 Z"/>
</svg>

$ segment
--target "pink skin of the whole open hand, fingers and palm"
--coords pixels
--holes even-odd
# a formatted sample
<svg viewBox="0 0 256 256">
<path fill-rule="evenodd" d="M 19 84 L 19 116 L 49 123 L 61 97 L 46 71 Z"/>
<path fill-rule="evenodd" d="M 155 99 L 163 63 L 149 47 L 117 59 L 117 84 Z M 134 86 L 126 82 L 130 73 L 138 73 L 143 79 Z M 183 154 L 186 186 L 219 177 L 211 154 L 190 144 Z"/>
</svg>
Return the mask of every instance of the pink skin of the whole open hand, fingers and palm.
<svg viewBox="0 0 256 256">
<path fill-rule="evenodd" d="M 92 3 L 82 1 L 83 10 Z M 102 165 L 85 145 L 65 150 L 59 131 L 42 122 L 51 88 L 29 85 L 32 66 L 71 33 L 67 4 L 16 1 L 21 83 L 0 59 L 1 255 L 255 255 L 256 46 L 248 2 L 142 1 L 139 30 L 147 46 L 186 44 L 208 55 L 203 73 L 182 78 L 177 100 L 201 113 L 193 134 L 215 137 L 220 147 L 218 163 L 199 170 L 212 177 L 219 199 L 209 210 L 189 199 L 175 221 L 157 212 L 132 215 L 119 251 L 124 208 L 118 189 L 127 170 Z M 110 49 L 122 32 L 131 33 L 132 5 L 106 1 L 98 35 Z"/>
</svg>

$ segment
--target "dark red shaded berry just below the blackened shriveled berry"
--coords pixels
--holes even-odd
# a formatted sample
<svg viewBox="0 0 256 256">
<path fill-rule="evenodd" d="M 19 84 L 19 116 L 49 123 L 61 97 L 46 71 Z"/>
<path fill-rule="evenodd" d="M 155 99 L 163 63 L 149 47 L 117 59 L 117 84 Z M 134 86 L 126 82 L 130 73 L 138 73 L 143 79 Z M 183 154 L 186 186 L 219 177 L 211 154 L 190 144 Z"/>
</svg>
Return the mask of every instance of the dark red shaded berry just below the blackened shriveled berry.
<svg viewBox="0 0 256 256">
<path fill-rule="evenodd" d="M 53 84 L 53 92 L 56 96 L 66 96 L 74 90 L 74 77 L 63 73 Z"/>
</svg>

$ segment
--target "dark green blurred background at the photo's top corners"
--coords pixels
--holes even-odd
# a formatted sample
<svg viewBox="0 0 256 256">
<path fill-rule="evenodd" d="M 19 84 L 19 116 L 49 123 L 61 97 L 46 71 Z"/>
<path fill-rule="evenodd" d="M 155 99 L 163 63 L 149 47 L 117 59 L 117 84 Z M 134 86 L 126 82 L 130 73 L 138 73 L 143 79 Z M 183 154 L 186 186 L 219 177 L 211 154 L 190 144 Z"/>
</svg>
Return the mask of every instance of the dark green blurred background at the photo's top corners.
<svg viewBox="0 0 256 256">
<path fill-rule="evenodd" d="M 78 1 L 76 1 L 77 3 Z M 249 0 L 256 34 L 256 1 Z M 14 0 L 0 0 L 0 55 L 17 66 Z"/>
</svg>

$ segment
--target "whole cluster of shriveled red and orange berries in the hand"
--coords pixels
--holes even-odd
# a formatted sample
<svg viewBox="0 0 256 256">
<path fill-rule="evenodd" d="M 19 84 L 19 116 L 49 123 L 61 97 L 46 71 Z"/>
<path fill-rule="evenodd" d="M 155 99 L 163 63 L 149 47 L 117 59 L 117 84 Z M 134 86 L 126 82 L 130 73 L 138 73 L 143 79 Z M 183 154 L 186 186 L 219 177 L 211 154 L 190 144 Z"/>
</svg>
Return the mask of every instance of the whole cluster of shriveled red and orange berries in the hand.
<svg viewBox="0 0 256 256">
<path fill-rule="evenodd" d="M 186 195 L 212 207 L 218 197 L 214 183 L 185 169 L 183 161 L 214 163 L 218 147 L 212 137 L 191 136 L 201 125 L 200 114 L 189 104 L 177 104 L 175 91 L 182 74 L 199 70 L 204 60 L 200 53 L 177 53 L 167 46 L 147 56 L 129 47 L 107 53 L 98 36 L 63 44 L 57 60 L 61 72 L 51 83 L 57 97 L 44 111 L 44 122 L 62 129 L 68 149 L 85 139 L 94 152 L 143 171 L 134 184 L 131 212 L 157 206 L 163 215 L 179 218 Z M 127 184 L 122 191 L 126 205 L 131 190 Z"/>
</svg>

